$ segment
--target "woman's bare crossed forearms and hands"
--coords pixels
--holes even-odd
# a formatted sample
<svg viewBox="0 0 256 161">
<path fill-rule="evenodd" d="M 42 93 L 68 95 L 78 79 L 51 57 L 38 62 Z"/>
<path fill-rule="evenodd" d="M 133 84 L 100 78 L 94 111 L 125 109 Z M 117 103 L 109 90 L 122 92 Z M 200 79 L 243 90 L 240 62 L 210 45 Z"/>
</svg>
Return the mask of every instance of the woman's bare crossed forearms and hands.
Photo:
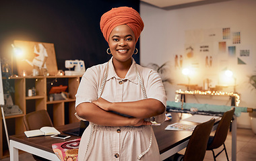
<svg viewBox="0 0 256 161">
<path fill-rule="evenodd" d="M 99 98 L 92 103 L 80 103 L 76 111 L 79 117 L 98 125 L 106 126 L 139 126 L 150 125 L 144 118 L 164 113 L 164 105 L 156 99 L 143 99 L 132 102 L 111 103 Z M 110 111 L 116 111 L 133 117 L 124 117 Z"/>
</svg>

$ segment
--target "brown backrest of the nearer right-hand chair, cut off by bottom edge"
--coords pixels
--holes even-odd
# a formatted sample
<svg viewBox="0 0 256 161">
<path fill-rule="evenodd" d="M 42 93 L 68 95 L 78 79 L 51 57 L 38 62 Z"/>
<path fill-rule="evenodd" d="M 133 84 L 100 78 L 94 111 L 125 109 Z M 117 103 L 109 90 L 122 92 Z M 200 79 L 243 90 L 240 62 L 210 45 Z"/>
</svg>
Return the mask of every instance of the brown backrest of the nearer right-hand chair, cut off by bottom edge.
<svg viewBox="0 0 256 161">
<path fill-rule="evenodd" d="M 189 139 L 183 161 L 203 160 L 207 148 L 207 142 L 214 126 L 215 119 L 197 125 Z"/>
</svg>

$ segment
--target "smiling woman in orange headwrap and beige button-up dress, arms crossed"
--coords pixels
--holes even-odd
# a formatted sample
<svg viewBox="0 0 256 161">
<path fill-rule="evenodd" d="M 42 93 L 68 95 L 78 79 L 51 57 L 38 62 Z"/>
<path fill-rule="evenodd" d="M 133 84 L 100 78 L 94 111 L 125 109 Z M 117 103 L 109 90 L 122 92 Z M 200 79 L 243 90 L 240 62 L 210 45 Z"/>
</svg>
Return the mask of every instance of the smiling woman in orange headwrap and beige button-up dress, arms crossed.
<svg viewBox="0 0 256 161">
<path fill-rule="evenodd" d="M 130 7 L 113 8 L 100 29 L 113 57 L 88 68 L 77 90 L 76 115 L 90 121 L 78 160 L 160 160 L 150 121 L 165 119 L 164 87 L 156 71 L 132 58 L 143 21 Z"/>
</svg>

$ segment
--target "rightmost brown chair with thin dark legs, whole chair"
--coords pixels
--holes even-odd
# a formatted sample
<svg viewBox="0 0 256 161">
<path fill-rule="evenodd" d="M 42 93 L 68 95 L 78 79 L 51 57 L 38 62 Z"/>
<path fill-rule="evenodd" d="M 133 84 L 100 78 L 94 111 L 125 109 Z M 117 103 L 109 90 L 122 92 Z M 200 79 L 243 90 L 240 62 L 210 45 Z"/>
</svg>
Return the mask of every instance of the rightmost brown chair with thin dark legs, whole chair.
<svg viewBox="0 0 256 161">
<path fill-rule="evenodd" d="M 232 117 L 234 115 L 234 107 L 230 109 L 229 111 L 226 111 L 222 119 L 220 120 L 220 123 L 218 124 L 218 127 L 216 129 L 216 132 L 214 136 L 210 136 L 208 143 L 207 143 L 207 149 L 206 150 L 212 150 L 212 154 L 214 156 L 214 160 L 216 161 L 217 156 L 219 156 L 223 150 L 225 150 L 226 153 L 226 159 L 228 160 L 228 153 L 226 152 L 226 136 L 228 135 L 228 128 L 230 127 L 230 123 L 232 121 Z M 214 149 L 219 148 L 223 145 L 223 149 L 217 154 L 214 154 Z"/>
</svg>

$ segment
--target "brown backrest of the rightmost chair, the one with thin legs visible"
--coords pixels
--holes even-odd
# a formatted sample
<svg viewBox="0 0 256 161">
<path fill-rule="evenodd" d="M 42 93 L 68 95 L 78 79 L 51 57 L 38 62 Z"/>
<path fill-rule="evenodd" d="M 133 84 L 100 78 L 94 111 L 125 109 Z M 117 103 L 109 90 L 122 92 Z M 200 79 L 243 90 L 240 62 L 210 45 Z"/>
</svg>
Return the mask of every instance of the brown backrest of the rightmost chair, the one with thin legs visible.
<svg viewBox="0 0 256 161">
<path fill-rule="evenodd" d="M 234 107 L 223 114 L 214 134 L 214 139 L 212 140 L 212 143 L 208 145 L 207 150 L 219 148 L 224 144 L 233 115 Z"/>
</svg>

